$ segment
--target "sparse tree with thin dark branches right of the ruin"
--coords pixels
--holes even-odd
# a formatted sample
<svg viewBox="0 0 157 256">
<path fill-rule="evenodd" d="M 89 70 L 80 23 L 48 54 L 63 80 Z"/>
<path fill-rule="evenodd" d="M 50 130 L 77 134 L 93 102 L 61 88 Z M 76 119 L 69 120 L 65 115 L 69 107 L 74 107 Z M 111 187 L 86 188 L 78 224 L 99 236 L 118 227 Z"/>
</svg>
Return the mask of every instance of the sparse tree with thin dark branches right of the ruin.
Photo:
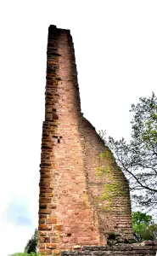
<svg viewBox="0 0 157 256">
<path fill-rule="evenodd" d="M 137 206 L 152 210 L 157 207 L 157 97 L 141 97 L 132 104 L 132 134 L 130 143 L 122 138 L 100 136 L 112 150 L 115 160 L 126 174 Z"/>
</svg>

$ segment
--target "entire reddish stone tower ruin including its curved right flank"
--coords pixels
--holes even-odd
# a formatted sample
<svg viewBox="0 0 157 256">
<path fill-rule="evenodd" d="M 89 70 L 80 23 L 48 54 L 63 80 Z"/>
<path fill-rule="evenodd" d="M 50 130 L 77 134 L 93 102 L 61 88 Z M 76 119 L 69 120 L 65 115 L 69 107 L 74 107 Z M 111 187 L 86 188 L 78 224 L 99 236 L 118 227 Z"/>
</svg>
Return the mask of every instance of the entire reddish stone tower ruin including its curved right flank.
<svg viewBox="0 0 157 256">
<path fill-rule="evenodd" d="M 115 163 L 100 159 L 109 149 L 81 113 L 76 59 L 69 30 L 49 26 L 45 120 L 39 199 L 39 249 L 59 253 L 82 245 L 105 244 L 109 233 L 132 238 L 132 214 L 126 177 Z M 109 151 L 109 150 L 108 150 Z M 111 153 L 110 153 L 111 154 Z M 111 208 L 98 201 L 108 183 L 106 166 L 121 184 Z"/>
</svg>

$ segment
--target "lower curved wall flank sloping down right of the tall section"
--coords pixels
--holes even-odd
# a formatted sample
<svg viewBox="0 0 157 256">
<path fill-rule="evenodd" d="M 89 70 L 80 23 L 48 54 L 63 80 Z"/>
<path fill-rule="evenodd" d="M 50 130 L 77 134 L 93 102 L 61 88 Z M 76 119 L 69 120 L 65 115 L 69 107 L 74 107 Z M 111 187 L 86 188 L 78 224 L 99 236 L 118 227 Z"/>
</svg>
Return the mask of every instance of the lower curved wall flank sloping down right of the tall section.
<svg viewBox="0 0 157 256">
<path fill-rule="evenodd" d="M 106 209 L 105 201 L 96 200 L 104 194 L 104 184 L 108 183 L 105 174 L 98 177 L 96 167 L 105 166 L 105 161 L 100 159 L 100 154 L 106 150 L 104 141 L 98 136 L 95 128 L 87 119 L 82 118 L 81 132 L 84 136 L 84 152 L 86 158 L 87 181 L 90 200 L 98 212 L 98 224 L 101 241 L 111 232 L 125 234 L 132 238 L 132 213 L 129 195 L 129 186 L 123 172 L 116 164 L 109 163 L 110 171 L 113 173 L 114 181 L 118 181 L 125 195 L 112 199 L 110 209 Z M 105 167 L 104 167 L 105 172 Z"/>
</svg>

